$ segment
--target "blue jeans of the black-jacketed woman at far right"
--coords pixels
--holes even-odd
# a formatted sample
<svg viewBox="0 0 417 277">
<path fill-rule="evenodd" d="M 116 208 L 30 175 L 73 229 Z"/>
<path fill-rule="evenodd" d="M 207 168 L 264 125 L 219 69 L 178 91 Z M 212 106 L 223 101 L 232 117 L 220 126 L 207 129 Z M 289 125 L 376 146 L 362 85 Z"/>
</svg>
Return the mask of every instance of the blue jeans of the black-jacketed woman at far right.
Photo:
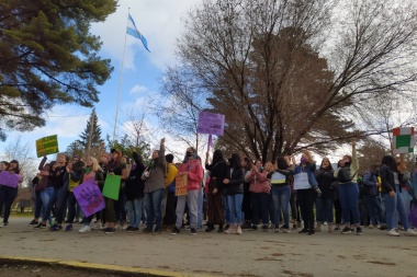
<svg viewBox="0 0 417 277">
<path fill-rule="evenodd" d="M 394 228 L 394 212 L 398 211 L 399 219 L 403 223 L 404 230 L 409 228 L 408 218 L 405 216 L 405 206 L 403 194 L 399 192 L 399 187 L 395 186 L 395 197 L 391 197 L 390 194 L 384 194 L 385 208 L 386 208 L 386 226 L 388 230 Z"/>
</svg>

